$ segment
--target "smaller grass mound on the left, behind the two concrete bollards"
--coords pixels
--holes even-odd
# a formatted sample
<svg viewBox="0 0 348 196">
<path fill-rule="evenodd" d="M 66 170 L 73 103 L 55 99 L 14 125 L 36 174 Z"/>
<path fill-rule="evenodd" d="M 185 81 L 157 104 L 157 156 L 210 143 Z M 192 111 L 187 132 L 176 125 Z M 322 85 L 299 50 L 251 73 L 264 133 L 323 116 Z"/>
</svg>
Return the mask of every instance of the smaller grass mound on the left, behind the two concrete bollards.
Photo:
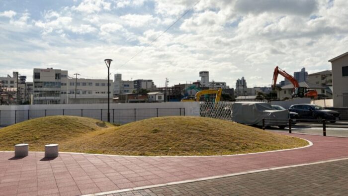
<svg viewBox="0 0 348 196">
<path fill-rule="evenodd" d="M 88 132 L 114 127 L 100 120 L 78 116 L 48 116 L 26 120 L 0 129 L 0 149 L 13 150 L 28 143 L 30 151 L 43 151 L 50 143 L 64 143 Z"/>
</svg>

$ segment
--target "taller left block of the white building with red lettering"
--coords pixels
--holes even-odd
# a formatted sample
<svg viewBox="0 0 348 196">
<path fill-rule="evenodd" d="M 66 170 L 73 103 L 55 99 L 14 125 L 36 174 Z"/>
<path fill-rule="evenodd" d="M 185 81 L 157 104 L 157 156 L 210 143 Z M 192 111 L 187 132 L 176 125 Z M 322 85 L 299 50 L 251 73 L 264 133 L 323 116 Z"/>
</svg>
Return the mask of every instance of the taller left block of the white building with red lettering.
<svg viewBox="0 0 348 196">
<path fill-rule="evenodd" d="M 68 103 L 68 71 L 60 69 L 34 69 L 33 104 Z"/>
</svg>

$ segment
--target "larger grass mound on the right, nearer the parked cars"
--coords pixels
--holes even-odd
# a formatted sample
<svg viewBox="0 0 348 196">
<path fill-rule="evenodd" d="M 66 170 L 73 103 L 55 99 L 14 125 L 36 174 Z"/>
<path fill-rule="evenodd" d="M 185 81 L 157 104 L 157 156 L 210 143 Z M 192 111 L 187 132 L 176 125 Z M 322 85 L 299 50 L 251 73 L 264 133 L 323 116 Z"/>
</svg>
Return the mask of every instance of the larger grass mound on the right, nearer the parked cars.
<svg viewBox="0 0 348 196">
<path fill-rule="evenodd" d="M 299 138 L 225 120 L 169 116 L 88 132 L 63 143 L 65 151 L 118 155 L 228 155 L 307 145 Z"/>
</svg>

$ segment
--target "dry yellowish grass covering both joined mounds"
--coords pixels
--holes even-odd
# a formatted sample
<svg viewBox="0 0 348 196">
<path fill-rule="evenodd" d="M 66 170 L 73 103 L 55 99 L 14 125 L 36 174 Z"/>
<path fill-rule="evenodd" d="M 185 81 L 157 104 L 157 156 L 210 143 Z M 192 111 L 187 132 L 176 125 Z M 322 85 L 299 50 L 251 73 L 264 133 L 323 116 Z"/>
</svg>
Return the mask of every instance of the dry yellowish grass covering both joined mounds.
<svg viewBox="0 0 348 196">
<path fill-rule="evenodd" d="M 224 120 L 170 116 L 150 118 L 119 127 L 74 116 L 52 116 L 0 129 L 0 150 L 29 143 L 42 151 L 58 143 L 60 151 L 118 155 L 228 155 L 307 145 L 307 141 Z M 105 124 L 104 124 L 105 125 Z"/>
</svg>

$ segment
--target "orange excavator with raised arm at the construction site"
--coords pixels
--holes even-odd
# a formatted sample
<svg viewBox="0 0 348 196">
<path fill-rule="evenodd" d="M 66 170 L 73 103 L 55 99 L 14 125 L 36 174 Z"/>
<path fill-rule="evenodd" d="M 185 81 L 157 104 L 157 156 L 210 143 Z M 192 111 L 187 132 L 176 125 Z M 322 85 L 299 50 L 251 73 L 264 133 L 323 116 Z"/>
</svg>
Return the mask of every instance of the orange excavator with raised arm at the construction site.
<svg viewBox="0 0 348 196">
<path fill-rule="evenodd" d="M 275 89 L 275 85 L 277 84 L 278 74 L 289 80 L 294 86 L 294 93 L 292 94 L 292 98 L 317 98 L 318 92 L 315 90 L 307 90 L 306 87 L 300 87 L 297 80 L 286 73 L 284 70 L 280 69 L 278 66 L 275 67 L 273 72 L 273 81 L 272 81 L 272 89 Z"/>
</svg>

